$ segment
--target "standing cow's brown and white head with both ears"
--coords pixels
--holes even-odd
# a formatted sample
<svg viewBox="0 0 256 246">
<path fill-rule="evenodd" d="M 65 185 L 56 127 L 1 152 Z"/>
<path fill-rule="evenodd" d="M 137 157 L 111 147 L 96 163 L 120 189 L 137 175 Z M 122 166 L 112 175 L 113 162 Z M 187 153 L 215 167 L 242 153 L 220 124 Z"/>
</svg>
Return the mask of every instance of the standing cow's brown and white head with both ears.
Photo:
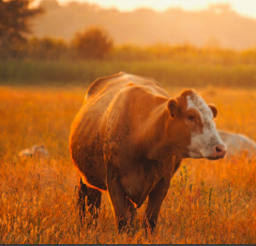
<svg viewBox="0 0 256 246">
<path fill-rule="evenodd" d="M 167 110 L 174 121 L 176 149 L 183 158 L 220 159 L 227 152 L 213 123 L 218 110 L 207 105 L 192 90 L 185 90 L 175 99 L 169 99 Z"/>
</svg>

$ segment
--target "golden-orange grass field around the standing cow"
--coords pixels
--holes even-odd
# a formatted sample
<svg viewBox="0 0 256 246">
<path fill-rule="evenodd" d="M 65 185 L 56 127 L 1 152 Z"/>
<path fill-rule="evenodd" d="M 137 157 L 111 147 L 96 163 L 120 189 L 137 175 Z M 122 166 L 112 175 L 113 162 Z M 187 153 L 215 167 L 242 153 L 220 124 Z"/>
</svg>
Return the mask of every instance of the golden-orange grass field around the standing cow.
<svg viewBox="0 0 256 246">
<path fill-rule="evenodd" d="M 183 88 L 166 88 L 170 96 Z M 75 208 L 78 172 L 68 151 L 70 125 L 86 87 L 0 87 L 0 244 L 255 244 L 256 158 L 186 159 L 170 184 L 153 236 L 137 210 L 136 233 L 118 234 L 103 194 L 98 225 Z M 256 140 L 256 90 L 199 88 L 218 106 L 218 129 Z M 49 159 L 18 159 L 44 144 Z"/>
</svg>

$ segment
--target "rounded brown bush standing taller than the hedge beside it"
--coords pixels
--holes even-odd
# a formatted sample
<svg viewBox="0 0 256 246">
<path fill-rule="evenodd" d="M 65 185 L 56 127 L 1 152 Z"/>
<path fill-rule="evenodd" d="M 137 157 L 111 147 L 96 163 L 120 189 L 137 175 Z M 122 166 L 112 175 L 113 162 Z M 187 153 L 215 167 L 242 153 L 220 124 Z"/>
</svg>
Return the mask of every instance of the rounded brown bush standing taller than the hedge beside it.
<svg viewBox="0 0 256 246">
<path fill-rule="evenodd" d="M 111 38 L 99 27 L 90 27 L 84 32 L 77 32 L 72 43 L 78 56 L 84 59 L 103 59 L 113 47 Z"/>
</svg>

